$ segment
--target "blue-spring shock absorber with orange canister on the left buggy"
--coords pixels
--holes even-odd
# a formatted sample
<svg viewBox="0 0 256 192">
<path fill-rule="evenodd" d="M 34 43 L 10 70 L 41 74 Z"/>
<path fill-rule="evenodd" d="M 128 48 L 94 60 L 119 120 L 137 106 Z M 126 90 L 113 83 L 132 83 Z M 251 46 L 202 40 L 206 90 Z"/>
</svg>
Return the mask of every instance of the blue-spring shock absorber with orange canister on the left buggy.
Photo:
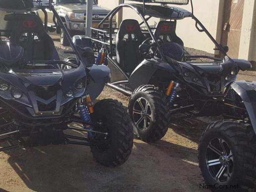
<svg viewBox="0 0 256 192">
<path fill-rule="evenodd" d="M 84 98 L 86 103 L 83 100 L 81 100 L 81 102 L 79 103 L 79 106 L 78 106 L 79 114 L 83 121 L 91 123 L 90 113 L 94 112 L 93 103 L 91 102 L 90 95 L 86 95 Z M 93 130 L 93 127 L 90 125 L 85 125 L 84 129 Z M 88 132 L 88 138 L 92 139 L 93 137 L 94 135 L 91 132 Z"/>
</svg>

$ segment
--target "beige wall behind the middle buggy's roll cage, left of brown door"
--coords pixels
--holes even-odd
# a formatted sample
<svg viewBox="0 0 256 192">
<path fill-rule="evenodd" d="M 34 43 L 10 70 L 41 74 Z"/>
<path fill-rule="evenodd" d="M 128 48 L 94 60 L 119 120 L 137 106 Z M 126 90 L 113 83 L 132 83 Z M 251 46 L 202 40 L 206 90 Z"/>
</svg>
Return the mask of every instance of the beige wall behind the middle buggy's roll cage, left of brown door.
<svg viewBox="0 0 256 192">
<path fill-rule="evenodd" d="M 219 2 L 223 0 L 194 0 L 194 15 L 204 24 L 212 36 L 215 38 L 217 34 Z M 126 1 L 127 3 L 132 1 Z M 113 9 L 118 4 L 118 0 L 99 0 L 99 5 Z M 191 11 L 191 6 L 181 6 L 183 9 Z M 123 10 L 123 19 L 134 18 L 139 22 L 141 18 L 129 8 Z M 151 18 L 150 26 L 156 26 L 159 18 Z M 205 33 L 200 33 L 195 28 L 195 22 L 191 18 L 186 18 L 177 22 L 177 35 L 183 40 L 186 47 L 204 50 L 209 53 L 214 53 L 214 44 L 206 36 Z"/>
</svg>

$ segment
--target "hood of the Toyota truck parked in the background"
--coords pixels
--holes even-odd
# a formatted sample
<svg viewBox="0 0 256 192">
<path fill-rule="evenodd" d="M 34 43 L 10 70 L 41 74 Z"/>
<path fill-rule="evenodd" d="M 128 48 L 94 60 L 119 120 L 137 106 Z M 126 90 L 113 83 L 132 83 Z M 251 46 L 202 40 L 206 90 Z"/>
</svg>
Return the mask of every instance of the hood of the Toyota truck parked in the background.
<svg viewBox="0 0 256 192">
<path fill-rule="evenodd" d="M 63 9 L 65 11 L 75 12 L 75 13 L 86 12 L 86 4 L 59 4 L 59 5 L 60 5 L 59 9 Z M 92 11 L 97 13 L 109 13 L 111 10 L 98 5 L 93 5 Z"/>
</svg>

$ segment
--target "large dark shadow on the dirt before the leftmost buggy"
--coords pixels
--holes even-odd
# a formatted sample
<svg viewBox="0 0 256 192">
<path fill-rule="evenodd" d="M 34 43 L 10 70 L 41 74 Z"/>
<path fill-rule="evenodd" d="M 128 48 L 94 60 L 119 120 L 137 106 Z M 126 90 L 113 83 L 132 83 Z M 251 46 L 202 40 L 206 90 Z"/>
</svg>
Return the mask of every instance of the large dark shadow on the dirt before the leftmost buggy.
<svg viewBox="0 0 256 192">
<path fill-rule="evenodd" d="M 196 150 L 165 141 L 155 145 L 135 139 L 129 160 L 117 168 L 98 164 L 85 146 L 40 146 L 6 154 L 33 191 L 197 191 L 203 182 Z"/>
</svg>

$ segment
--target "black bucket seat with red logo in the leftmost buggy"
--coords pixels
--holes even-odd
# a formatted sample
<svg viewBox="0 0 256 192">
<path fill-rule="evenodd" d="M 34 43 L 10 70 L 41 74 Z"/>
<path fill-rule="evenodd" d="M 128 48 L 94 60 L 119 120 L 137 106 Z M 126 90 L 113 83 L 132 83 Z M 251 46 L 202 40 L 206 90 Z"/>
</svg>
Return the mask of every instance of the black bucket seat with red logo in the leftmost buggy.
<svg viewBox="0 0 256 192">
<path fill-rule="evenodd" d="M 24 48 L 23 59 L 26 62 L 59 60 L 53 40 L 37 15 L 10 14 L 5 15 L 4 20 L 7 27 L 12 28 L 10 44 Z"/>
</svg>

